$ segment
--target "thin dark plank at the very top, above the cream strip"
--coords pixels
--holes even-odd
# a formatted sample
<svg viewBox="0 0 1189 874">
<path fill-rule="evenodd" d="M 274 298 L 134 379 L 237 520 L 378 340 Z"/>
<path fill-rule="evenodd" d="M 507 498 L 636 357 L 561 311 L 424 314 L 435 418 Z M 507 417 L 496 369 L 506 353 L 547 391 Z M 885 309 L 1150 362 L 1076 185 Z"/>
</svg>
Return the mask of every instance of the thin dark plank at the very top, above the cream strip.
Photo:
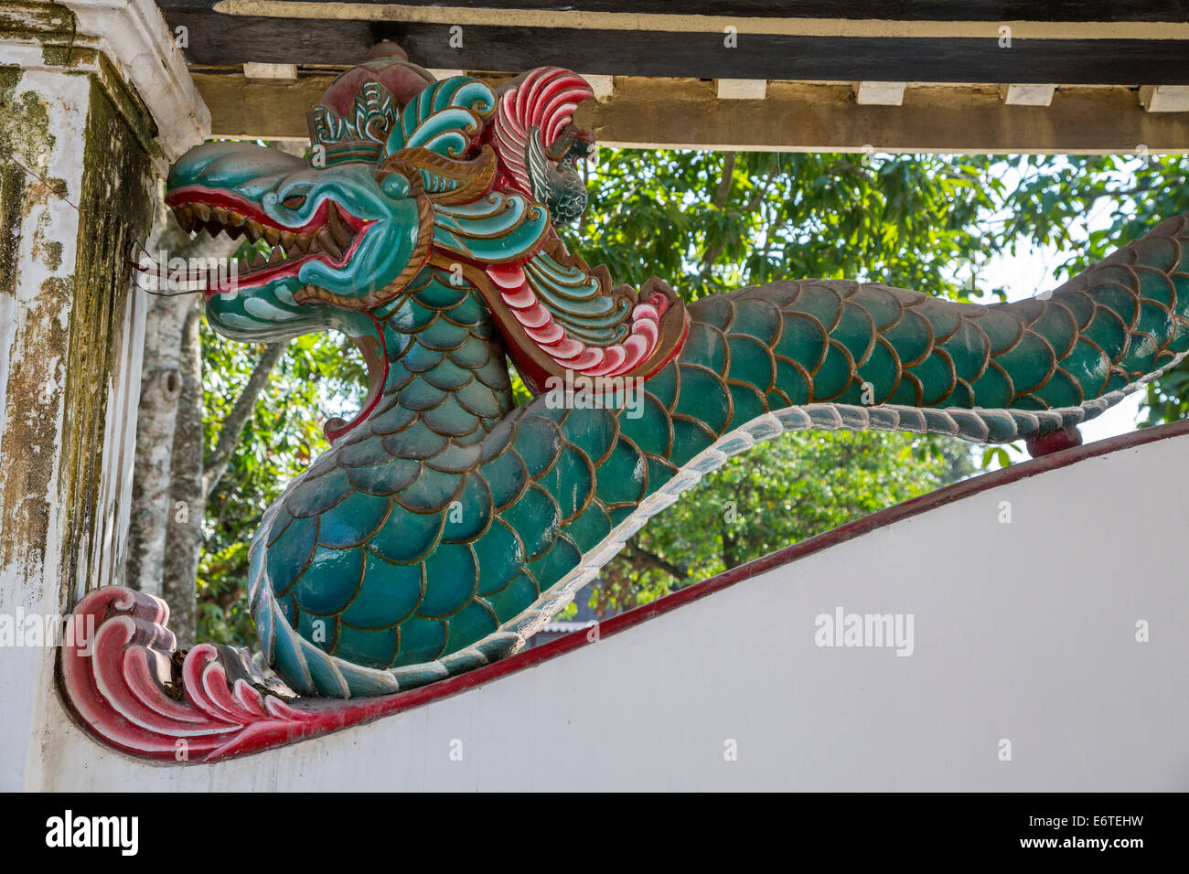
<svg viewBox="0 0 1189 874">
<path fill-rule="evenodd" d="M 332 2 L 340 0 L 308 0 Z M 363 5 L 540 12 L 619 12 L 749 18 L 844 18 L 901 21 L 1189 21 L 1189 0 L 351 0 Z M 163 0 L 164 10 L 210 10 L 219 0 Z"/>
</svg>

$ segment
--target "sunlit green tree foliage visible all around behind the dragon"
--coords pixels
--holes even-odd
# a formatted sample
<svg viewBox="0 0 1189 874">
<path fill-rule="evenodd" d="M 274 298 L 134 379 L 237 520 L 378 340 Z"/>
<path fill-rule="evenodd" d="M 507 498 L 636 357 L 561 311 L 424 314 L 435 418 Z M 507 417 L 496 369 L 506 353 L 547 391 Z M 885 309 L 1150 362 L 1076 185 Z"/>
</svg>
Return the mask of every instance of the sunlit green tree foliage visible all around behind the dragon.
<svg viewBox="0 0 1189 874">
<path fill-rule="evenodd" d="M 638 285 L 655 273 L 690 301 L 804 277 L 964 298 L 973 291 L 969 275 L 995 252 L 1056 244 L 1074 253 L 1062 265 L 1071 275 L 1157 220 L 1189 210 L 1184 157 L 604 149 L 600 158 L 586 215 L 561 229 L 567 245 L 591 264 L 606 264 L 616 282 Z M 1107 210 L 1106 228 L 1087 222 L 1095 210 Z M 260 347 L 208 334 L 205 354 L 209 453 Z M 290 345 L 207 508 L 200 637 L 251 640 L 243 581 L 259 515 L 326 451 L 325 417 L 361 395 L 358 358 L 341 338 Z M 1157 383 L 1149 402 L 1153 423 L 1182 417 L 1189 370 Z M 1004 463 L 995 453 L 987 458 Z M 592 586 L 592 604 L 608 615 L 647 603 L 971 470 L 969 448 L 952 440 L 786 435 L 732 460 L 654 518 Z"/>
</svg>

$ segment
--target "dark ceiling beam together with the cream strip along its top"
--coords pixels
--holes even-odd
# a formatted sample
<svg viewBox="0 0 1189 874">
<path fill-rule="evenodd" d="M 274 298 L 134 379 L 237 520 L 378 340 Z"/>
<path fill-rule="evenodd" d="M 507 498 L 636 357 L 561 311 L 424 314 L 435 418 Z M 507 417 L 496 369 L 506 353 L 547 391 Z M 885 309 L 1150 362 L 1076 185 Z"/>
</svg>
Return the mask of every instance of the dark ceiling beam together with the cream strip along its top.
<svg viewBox="0 0 1189 874">
<path fill-rule="evenodd" d="M 493 4 L 497 8 L 491 8 Z M 987 12 L 1009 5 L 976 7 Z M 1068 5 L 1086 14 L 1106 14 L 1103 4 Z M 1174 18 L 1163 23 L 1128 20 L 1128 4 L 1119 4 L 1124 8 L 1112 14 L 1119 20 L 1107 24 L 999 17 L 817 19 L 788 4 L 774 6 L 795 8 L 795 17 L 775 17 L 759 14 L 748 2 L 722 6 L 750 17 L 721 11 L 684 14 L 684 5 L 682 14 L 673 14 L 672 5 L 669 13 L 628 14 L 623 10 L 656 6 L 628 2 L 547 10 L 556 6 L 552 0 L 445 6 L 162 0 L 161 6 L 171 27 L 187 27 L 189 61 L 203 65 L 356 64 L 377 42 L 394 39 L 415 63 L 442 69 L 528 70 L 555 64 L 603 75 L 721 80 L 1189 84 L 1184 4 L 1165 4 L 1162 8 Z M 933 2 L 897 6 L 940 14 L 940 5 Z M 963 14 L 967 6 L 961 5 Z M 711 5 L 698 8 L 703 7 Z M 251 14 L 231 14 L 237 11 Z M 725 27 L 736 29 L 734 38 L 728 38 Z"/>
</svg>

